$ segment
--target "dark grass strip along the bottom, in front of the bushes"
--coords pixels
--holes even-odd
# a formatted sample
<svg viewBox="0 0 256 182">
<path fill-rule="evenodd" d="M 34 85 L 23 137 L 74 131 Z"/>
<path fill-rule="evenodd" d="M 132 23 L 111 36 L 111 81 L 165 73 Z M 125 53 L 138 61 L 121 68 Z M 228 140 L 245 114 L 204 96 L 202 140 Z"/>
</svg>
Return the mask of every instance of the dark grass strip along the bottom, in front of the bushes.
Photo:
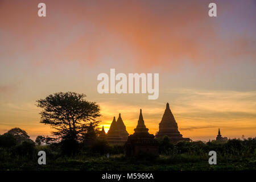
<svg viewBox="0 0 256 182">
<path fill-rule="evenodd" d="M 217 160 L 216 165 L 209 165 L 206 156 L 179 154 L 175 156 L 160 155 L 155 159 L 126 158 L 123 154 L 106 156 L 76 156 L 47 160 L 46 165 L 39 165 L 37 160 L 26 158 L 10 159 L 0 164 L 1 170 L 175 170 L 175 171 L 209 171 L 209 170 L 256 170 L 256 158 L 235 160 Z"/>
</svg>

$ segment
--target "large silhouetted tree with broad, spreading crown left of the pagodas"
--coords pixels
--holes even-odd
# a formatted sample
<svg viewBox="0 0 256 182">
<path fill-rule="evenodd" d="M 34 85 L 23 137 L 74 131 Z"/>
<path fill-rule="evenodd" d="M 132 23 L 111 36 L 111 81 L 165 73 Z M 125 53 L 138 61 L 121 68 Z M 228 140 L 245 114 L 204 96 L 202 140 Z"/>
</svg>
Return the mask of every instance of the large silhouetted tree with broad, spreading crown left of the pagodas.
<svg viewBox="0 0 256 182">
<path fill-rule="evenodd" d="M 85 97 L 85 94 L 75 92 L 59 92 L 36 101 L 43 109 L 40 122 L 51 125 L 57 130 L 53 134 L 67 139 L 67 143 L 77 142 L 85 123 L 95 122 L 100 116 L 100 107 L 95 102 L 86 101 Z"/>
</svg>

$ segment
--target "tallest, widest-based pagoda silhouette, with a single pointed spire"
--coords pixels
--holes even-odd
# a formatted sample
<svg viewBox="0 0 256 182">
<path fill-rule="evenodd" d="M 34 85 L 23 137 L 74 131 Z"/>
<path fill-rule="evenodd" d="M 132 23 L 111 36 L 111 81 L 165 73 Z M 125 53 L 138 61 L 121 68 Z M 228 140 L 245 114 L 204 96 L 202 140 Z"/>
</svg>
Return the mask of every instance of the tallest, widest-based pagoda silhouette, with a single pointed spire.
<svg viewBox="0 0 256 182">
<path fill-rule="evenodd" d="M 156 134 L 155 138 L 160 139 L 164 136 L 169 137 L 172 143 L 177 143 L 181 140 L 190 140 L 189 138 L 183 138 L 180 134 L 177 123 L 174 119 L 174 115 L 172 114 L 168 103 L 166 104 L 166 110 L 164 111 L 163 118 L 159 123 L 159 131 Z"/>
</svg>

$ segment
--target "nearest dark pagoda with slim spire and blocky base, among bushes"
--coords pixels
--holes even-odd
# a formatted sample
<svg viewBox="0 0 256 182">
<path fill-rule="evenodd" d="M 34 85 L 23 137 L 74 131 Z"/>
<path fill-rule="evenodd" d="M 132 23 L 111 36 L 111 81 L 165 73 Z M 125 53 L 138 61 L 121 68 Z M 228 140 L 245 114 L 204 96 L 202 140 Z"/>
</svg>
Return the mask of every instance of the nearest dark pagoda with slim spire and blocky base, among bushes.
<svg viewBox="0 0 256 182">
<path fill-rule="evenodd" d="M 130 135 L 125 143 L 127 156 L 137 156 L 139 154 L 159 155 L 159 144 L 154 139 L 154 135 L 148 133 L 142 117 L 142 110 L 139 114 L 138 125 L 134 131 L 134 134 Z"/>
</svg>

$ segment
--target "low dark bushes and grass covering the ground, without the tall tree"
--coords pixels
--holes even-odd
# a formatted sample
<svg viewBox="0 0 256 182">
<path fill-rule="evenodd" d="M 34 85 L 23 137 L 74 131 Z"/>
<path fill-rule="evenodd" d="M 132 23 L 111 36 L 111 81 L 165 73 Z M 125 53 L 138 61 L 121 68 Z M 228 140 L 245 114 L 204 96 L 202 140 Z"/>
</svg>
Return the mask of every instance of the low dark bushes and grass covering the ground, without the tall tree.
<svg viewBox="0 0 256 182">
<path fill-rule="evenodd" d="M 0 136 L 1 170 L 255 170 L 256 138 L 232 139 L 226 142 L 179 142 L 160 140 L 159 158 L 139 156 L 127 158 L 123 146 L 105 140 L 78 143 L 78 152 L 63 153 L 63 143 L 35 145 L 27 141 L 13 142 L 10 135 Z M 10 142 L 10 143 L 11 143 Z M 68 147 L 67 144 L 66 147 Z M 47 165 L 39 165 L 38 151 L 46 151 Z M 217 165 L 208 164 L 208 152 L 217 152 Z M 109 154 L 109 158 L 107 156 Z"/>
</svg>

